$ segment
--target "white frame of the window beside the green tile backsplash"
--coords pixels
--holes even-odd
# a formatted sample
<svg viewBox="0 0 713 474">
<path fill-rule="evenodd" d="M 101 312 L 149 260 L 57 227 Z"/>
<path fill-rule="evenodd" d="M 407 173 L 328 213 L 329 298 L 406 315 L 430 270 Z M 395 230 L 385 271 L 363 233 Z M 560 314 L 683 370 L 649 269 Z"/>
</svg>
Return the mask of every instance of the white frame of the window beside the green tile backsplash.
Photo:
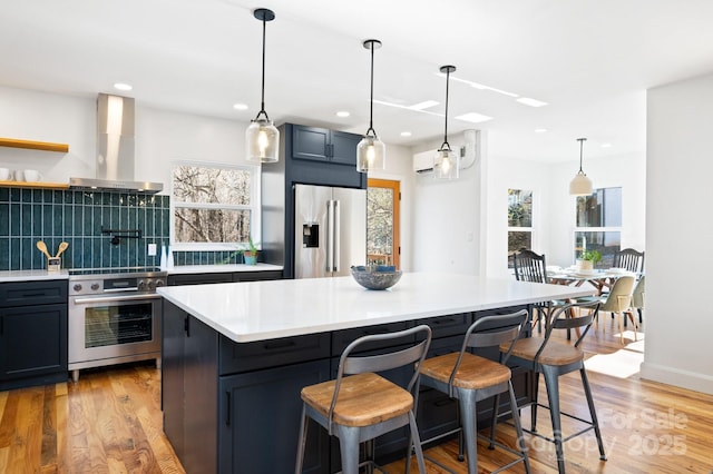
<svg viewBox="0 0 713 474">
<path fill-rule="evenodd" d="M 194 166 L 199 168 L 218 168 L 225 170 L 244 170 L 250 172 L 250 205 L 225 205 L 209 203 L 178 203 L 174 195 L 174 174 L 176 168 L 180 166 Z M 262 203 L 261 203 L 261 170 L 260 166 L 254 165 L 232 165 L 214 161 L 196 161 L 196 160 L 174 160 L 170 164 L 170 210 L 169 210 L 169 243 L 172 250 L 178 251 L 221 251 L 221 250 L 241 250 L 247 246 L 247 241 L 236 243 L 178 243 L 176 241 L 176 208 L 191 209 L 229 209 L 229 210 L 250 210 L 250 228 L 251 236 L 255 246 L 261 248 L 262 241 Z"/>
</svg>

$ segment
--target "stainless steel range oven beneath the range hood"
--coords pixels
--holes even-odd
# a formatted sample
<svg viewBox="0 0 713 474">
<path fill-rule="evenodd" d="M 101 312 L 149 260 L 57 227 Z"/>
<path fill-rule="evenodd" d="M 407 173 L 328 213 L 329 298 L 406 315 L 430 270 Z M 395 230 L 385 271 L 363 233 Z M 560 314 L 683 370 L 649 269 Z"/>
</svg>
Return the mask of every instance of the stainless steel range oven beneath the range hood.
<svg viewBox="0 0 713 474">
<path fill-rule="evenodd" d="M 166 273 L 154 268 L 70 270 L 68 358 L 75 382 L 81 368 L 152 358 L 160 367 L 156 288 L 164 285 Z"/>
</svg>

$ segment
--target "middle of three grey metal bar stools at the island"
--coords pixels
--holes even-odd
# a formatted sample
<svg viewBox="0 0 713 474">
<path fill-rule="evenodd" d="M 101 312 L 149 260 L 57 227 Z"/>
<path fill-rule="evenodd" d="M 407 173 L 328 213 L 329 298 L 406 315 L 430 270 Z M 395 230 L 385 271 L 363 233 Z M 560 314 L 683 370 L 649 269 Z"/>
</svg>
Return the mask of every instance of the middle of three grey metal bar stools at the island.
<svg viewBox="0 0 713 474">
<path fill-rule="evenodd" d="M 512 314 L 479 318 L 470 325 L 466 332 L 460 352 L 428 358 L 421 367 L 421 383 L 423 385 L 436 388 L 448 394 L 451 398 L 458 399 L 462 426 L 462 429 L 457 428 L 449 433 L 443 433 L 424 441 L 423 444 L 456 432 L 461 432 L 466 443 L 469 474 L 476 474 L 478 472 L 477 402 L 507 392 L 510 397 L 510 409 L 517 429 L 518 444 L 522 441 L 522 428 L 520 426 L 515 392 L 512 391 L 510 369 L 505 365 L 509 357 L 509 352 L 506 350 L 506 354 L 500 356 L 500 363 L 497 363 L 471 354 L 468 349 L 498 347 L 499 345 L 514 346 L 514 343 L 522 335 L 527 327 L 527 310 L 521 309 Z M 519 462 L 525 463 L 526 472 L 530 472 L 530 464 L 525 447 L 518 452 L 509 446 L 496 443 L 495 425 L 492 426 L 490 443 L 490 447 L 498 445 L 518 456 L 517 460 L 494 472 L 500 472 Z M 462 456 L 462 443 L 460 443 L 460 454 Z"/>
</svg>

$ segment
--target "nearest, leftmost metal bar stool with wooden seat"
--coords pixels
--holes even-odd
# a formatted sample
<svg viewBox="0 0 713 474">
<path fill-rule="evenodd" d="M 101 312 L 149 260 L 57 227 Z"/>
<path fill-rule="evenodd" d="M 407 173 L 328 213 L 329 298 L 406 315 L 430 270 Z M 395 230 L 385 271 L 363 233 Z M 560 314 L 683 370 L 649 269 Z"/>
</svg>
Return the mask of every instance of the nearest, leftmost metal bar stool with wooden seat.
<svg viewBox="0 0 713 474">
<path fill-rule="evenodd" d="M 401 339 L 401 343 L 404 338 L 410 342 L 407 348 L 399 345 L 398 348 L 379 355 L 352 355 L 364 344 L 388 339 L 394 339 L 394 343 Z M 344 474 L 356 474 L 363 465 L 371 466 L 371 470 L 375 465 L 371 440 L 409 425 L 409 457 L 413 448 L 419 470 L 426 473 L 413 409 L 418 403 L 419 371 L 430 344 L 431 328 L 427 325 L 360 337 L 342 353 L 335 379 L 302 388 L 302 424 L 295 473 L 302 473 L 309 418 L 322 425 L 331 436 L 339 438 Z M 403 366 L 409 366 L 413 373 L 406 387 L 377 374 Z M 360 464 L 359 446 L 364 442 L 368 442 L 368 460 Z M 407 460 L 407 471 L 409 464 Z"/>
</svg>

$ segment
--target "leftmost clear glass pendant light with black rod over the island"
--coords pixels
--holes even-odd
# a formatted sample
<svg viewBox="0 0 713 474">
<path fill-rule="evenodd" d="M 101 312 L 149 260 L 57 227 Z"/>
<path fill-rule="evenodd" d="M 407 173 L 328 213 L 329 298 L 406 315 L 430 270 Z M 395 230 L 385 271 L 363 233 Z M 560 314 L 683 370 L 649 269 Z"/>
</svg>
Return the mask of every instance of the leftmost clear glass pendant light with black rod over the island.
<svg viewBox="0 0 713 474">
<path fill-rule="evenodd" d="M 266 8 L 258 8 L 253 16 L 263 22 L 263 85 L 260 112 L 245 130 L 247 160 L 256 162 L 277 161 L 280 131 L 265 111 L 265 24 L 275 19 L 275 13 Z"/>
</svg>

